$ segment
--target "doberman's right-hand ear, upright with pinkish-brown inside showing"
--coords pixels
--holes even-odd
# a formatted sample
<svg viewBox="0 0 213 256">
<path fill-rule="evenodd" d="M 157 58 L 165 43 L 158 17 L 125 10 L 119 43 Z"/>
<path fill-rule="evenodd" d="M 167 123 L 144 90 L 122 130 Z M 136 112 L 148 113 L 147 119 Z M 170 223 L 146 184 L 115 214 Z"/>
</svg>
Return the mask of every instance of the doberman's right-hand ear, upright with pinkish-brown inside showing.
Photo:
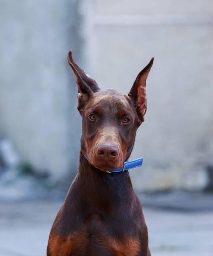
<svg viewBox="0 0 213 256">
<path fill-rule="evenodd" d="M 146 94 L 146 80 L 153 65 L 154 58 L 151 58 L 150 63 L 144 67 L 138 74 L 128 96 L 133 100 L 135 109 L 138 112 L 141 122 L 144 121 L 143 116 L 147 111 L 147 94 Z"/>
</svg>

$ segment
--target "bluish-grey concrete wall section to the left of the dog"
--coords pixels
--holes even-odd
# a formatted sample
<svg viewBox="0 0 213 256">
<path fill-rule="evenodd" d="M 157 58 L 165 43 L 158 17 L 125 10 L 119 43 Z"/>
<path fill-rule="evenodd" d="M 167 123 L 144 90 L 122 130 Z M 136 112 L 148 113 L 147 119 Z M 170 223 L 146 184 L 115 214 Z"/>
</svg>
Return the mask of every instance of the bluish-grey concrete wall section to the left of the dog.
<svg viewBox="0 0 213 256">
<path fill-rule="evenodd" d="M 1 136 L 24 162 L 63 180 L 77 170 L 81 134 L 77 86 L 66 61 L 72 47 L 81 62 L 78 3 L 1 0 L 0 21 Z"/>
</svg>

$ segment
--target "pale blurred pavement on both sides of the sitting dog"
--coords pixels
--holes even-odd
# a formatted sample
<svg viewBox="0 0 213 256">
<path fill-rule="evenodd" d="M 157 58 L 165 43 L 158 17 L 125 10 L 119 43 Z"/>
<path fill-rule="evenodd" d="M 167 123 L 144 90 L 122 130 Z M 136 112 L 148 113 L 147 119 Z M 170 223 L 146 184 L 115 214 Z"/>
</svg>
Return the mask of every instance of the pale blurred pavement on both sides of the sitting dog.
<svg viewBox="0 0 213 256">
<path fill-rule="evenodd" d="M 0 201 L 0 256 L 45 256 L 62 202 Z M 213 211 L 143 209 L 152 256 L 213 256 Z"/>
</svg>

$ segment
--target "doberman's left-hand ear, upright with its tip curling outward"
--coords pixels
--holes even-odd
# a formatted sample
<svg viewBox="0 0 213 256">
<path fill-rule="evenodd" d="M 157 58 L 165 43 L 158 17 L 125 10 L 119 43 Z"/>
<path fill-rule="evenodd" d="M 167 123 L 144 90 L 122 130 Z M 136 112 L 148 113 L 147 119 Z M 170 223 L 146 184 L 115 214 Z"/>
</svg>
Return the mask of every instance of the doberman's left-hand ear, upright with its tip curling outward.
<svg viewBox="0 0 213 256">
<path fill-rule="evenodd" d="M 85 103 L 88 101 L 89 97 L 100 90 L 98 84 L 92 77 L 88 76 L 84 70 L 82 70 L 72 58 L 72 51 L 70 50 L 67 55 L 67 60 L 69 62 L 72 71 L 74 72 L 77 84 L 78 84 L 78 111 L 82 113 Z"/>
</svg>

